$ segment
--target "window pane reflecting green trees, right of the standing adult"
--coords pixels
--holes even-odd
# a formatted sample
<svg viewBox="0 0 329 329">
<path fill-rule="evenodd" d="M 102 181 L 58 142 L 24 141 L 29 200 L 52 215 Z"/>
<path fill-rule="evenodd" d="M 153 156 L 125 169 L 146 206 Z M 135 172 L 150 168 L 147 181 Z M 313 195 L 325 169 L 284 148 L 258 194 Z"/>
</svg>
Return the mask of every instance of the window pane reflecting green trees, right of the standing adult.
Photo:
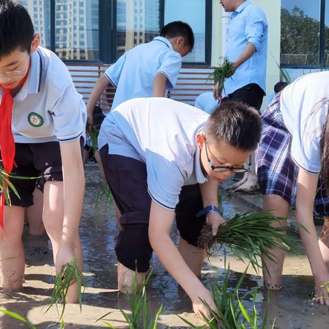
<svg viewBox="0 0 329 329">
<path fill-rule="evenodd" d="M 320 0 L 282 0 L 281 6 L 281 64 L 319 64 Z"/>
</svg>

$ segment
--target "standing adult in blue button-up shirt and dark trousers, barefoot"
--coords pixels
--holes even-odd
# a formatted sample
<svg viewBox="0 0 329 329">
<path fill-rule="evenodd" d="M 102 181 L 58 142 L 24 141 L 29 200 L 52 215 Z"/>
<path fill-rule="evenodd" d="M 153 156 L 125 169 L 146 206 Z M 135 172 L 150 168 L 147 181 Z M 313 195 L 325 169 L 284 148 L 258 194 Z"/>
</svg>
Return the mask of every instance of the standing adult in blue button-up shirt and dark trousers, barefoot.
<svg viewBox="0 0 329 329">
<path fill-rule="evenodd" d="M 234 63 L 234 71 L 224 86 L 215 86 L 215 99 L 221 98 L 223 90 L 226 97 L 222 101 L 242 101 L 259 111 L 266 90 L 268 25 L 265 13 L 249 0 L 221 0 L 221 5 L 226 12 L 232 12 L 227 57 Z M 253 155 L 252 171 L 230 189 L 252 192 L 258 188 Z"/>
</svg>

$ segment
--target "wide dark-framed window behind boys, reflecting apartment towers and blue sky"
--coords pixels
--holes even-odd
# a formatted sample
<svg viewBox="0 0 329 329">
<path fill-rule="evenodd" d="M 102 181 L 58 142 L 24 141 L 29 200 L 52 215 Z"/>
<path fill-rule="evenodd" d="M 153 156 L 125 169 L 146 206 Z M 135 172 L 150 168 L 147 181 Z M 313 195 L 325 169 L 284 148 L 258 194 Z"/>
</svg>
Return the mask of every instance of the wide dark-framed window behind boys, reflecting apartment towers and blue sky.
<svg viewBox="0 0 329 329">
<path fill-rule="evenodd" d="M 184 62 L 210 64 L 211 0 L 19 1 L 40 34 L 40 45 L 64 61 L 110 64 L 158 36 L 164 24 L 181 20 L 195 32 L 195 49 Z"/>
</svg>

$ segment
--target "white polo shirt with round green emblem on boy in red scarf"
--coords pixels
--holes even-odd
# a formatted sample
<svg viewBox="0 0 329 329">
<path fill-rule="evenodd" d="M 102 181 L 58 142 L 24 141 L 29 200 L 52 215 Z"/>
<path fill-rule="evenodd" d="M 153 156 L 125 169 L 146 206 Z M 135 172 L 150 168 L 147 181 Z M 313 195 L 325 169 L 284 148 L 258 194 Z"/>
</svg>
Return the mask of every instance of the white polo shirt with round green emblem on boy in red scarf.
<svg viewBox="0 0 329 329">
<path fill-rule="evenodd" d="M 85 127 L 86 105 L 69 70 L 55 53 L 38 47 L 32 53 L 27 80 L 14 97 L 15 143 L 74 141 L 84 136 Z"/>
</svg>

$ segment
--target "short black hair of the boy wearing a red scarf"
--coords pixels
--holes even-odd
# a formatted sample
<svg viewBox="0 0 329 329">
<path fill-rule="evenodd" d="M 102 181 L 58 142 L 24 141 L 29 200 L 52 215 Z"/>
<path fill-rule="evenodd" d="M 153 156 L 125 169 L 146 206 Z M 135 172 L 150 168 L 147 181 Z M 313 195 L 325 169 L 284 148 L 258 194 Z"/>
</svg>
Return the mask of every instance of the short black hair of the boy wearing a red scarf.
<svg viewBox="0 0 329 329">
<path fill-rule="evenodd" d="M 12 51 L 31 50 L 34 27 L 27 10 L 17 1 L 0 1 L 0 58 Z"/>
</svg>

